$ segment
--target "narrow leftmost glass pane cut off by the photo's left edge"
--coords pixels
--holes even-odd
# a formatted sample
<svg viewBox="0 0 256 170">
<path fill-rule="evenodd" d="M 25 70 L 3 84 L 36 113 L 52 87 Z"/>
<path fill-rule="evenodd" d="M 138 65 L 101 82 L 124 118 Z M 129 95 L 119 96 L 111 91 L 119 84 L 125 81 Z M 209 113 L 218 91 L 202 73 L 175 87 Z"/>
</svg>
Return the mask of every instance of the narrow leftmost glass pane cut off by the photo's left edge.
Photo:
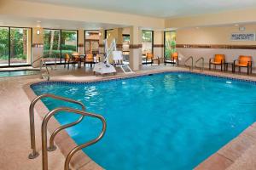
<svg viewBox="0 0 256 170">
<path fill-rule="evenodd" d="M 0 27 L 0 66 L 9 65 L 9 28 Z"/>
</svg>

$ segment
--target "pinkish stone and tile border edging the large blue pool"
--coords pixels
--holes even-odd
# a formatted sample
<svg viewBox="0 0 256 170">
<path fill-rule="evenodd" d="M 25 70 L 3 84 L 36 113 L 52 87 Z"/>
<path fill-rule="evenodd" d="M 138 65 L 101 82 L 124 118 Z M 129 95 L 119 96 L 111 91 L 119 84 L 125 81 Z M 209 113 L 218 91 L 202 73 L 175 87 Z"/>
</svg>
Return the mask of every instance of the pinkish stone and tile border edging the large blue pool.
<svg viewBox="0 0 256 170">
<path fill-rule="evenodd" d="M 127 78 L 133 78 L 133 77 L 144 77 L 144 76 L 148 76 L 151 74 L 163 74 L 163 73 L 170 73 L 170 72 L 181 72 L 181 73 L 189 73 L 189 74 L 194 74 L 194 75 L 202 75 L 202 76 L 206 76 L 206 77 L 217 77 L 217 78 L 223 78 L 223 79 L 227 79 L 227 80 L 235 80 L 235 81 L 241 81 L 241 82 L 249 82 L 249 83 L 253 83 L 256 84 L 255 80 L 251 80 L 248 79 L 247 77 L 243 77 L 243 76 L 237 76 L 237 75 L 220 75 L 220 74 L 216 74 L 214 72 L 205 72 L 205 73 L 201 73 L 201 72 L 195 72 L 195 71 L 153 71 L 152 73 L 137 73 L 135 75 L 131 75 L 131 76 L 119 76 L 119 77 L 107 77 L 107 78 L 102 78 L 102 80 L 93 80 L 93 81 L 83 81 L 83 82 L 77 82 L 77 81 L 51 81 L 51 82 L 30 82 L 28 84 L 26 84 L 26 86 L 24 86 L 24 90 L 26 91 L 26 94 L 29 96 L 29 99 L 33 99 L 36 97 L 36 94 L 34 94 L 34 92 L 32 91 L 32 86 L 38 85 L 38 84 L 50 84 L 50 83 L 100 83 L 100 82 L 109 82 L 109 81 L 113 81 L 113 80 L 120 80 L 120 79 L 127 79 Z M 43 104 L 43 102 L 39 102 L 38 104 L 39 106 L 39 110 L 38 107 L 36 106 L 37 111 L 39 112 L 39 115 L 43 118 L 44 114 L 47 113 L 49 110 L 46 108 L 46 106 Z M 42 112 L 42 108 L 44 108 L 44 111 Z M 43 115 L 42 115 L 43 114 Z M 55 129 L 55 127 L 59 126 L 59 123 L 55 120 L 55 118 L 53 118 L 53 122 L 49 122 L 49 132 L 52 133 L 53 130 Z M 230 165 L 232 165 L 232 163 L 234 163 L 236 161 L 236 159 L 241 156 L 241 154 L 243 153 L 244 150 L 241 150 L 240 152 L 236 153 L 236 157 L 233 159 L 230 159 L 229 156 L 230 154 L 232 154 L 232 151 L 235 150 L 236 148 L 239 147 L 239 142 L 237 142 L 238 139 L 244 139 L 244 136 L 247 136 L 247 133 L 250 136 L 253 136 L 253 138 L 255 138 L 254 143 L 256 143 L 256 122 L 253 123 L 253 125 L 247 127 L 247 129 L 245 131 L 243 131 L 238 137 L 236 137 L 235 139 L 232 139 L 228 144 L 225 144 L 223 148 L 221 148 L 220 150 L 218 150 L 216 153 L 214 153 L 212 156 L 209 156 L 207 158 L 207 160 L 202 161 L 200 165 L 198 165 L 197 167 L 195 167 L 196 170 L 202 170 L 202 169 L 207 169 L 207 170 L 214 170 L 214 169 L 225 169 L 227 167 L 230 167 Z M 67 140 L 67 142 L 65 143 L 66 145 L 63 146 L 63 141 L 62 140 Z M 60 139 L 56 138 L 55 143 L 57 144 L 57 146 L 61 149 L 61 152 L 63 153 L 64 156 L 67 156 L 67 148 L 66 147 L 70 147 L 70 145 L 74 144 L 73 139 L 71 139 L 71 137 L 66 133 L 66 132 L 62 132 L 60 133 Z M 64 148 L 63 148 L 64 147 Z M 230 150 L 231 147 L 231 150 Z M 248 146 L 249 147 L 249 146 Z M 232 149 L 233 148 L 233 149 Z M 84 163 L 85 162 L 85 163 Z M 78 156 L 74 156 L 73 161 L 71 162 L 71 165 L 74 167 L 85 167 L 85 169 L 87 167 L 90 167 L 90 169 L 102 169 L 102 167 L 100 167 L 99 165 L 96 164 L 96 162 L 92 161 L 89 156 L 86 156 L 83 153 L 79 153 Z"/>
</svg>

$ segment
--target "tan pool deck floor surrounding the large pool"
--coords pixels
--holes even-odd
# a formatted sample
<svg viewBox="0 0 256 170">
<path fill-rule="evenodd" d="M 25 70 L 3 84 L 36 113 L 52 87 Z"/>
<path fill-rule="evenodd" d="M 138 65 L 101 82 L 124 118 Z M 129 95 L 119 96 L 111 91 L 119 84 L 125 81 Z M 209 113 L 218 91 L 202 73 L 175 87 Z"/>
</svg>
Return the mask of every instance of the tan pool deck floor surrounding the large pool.
<svg viewBox="0 0 256 170">
<path fill-rule="evenodd" d="M 148 74 L 159 71 L 188 71 L 181 67 L 172 67 L 172 66 L 153 66 L 145 67 L 142 71 L 137 71 L 137 74 Z M 200 71 L 195 71 L 200 72 Z M 230 73 L 223 73 L 218 71 L 204 71 L 204 74 L 211 74 L 216 76 L 227 76 L 234 78 L 245 78 L 249 80 L 256 81 L 256 77 L 246 76 L 246 75 L 237 75 Z M 114 77 L 124 77 L 125 74 L 118 73 L 115 76 L 101 77 L 94 76 L 91 71 L 85 71 L 84 69 L 72 69 L 63 70 L 63 66 L 58 66 L 56 71 L 51 71 L 51 80 L 56 81 L 95 81 L 102 80 Z M 42 160 L 41 156 L 37 159 L 29 160 L 27 158 L 30 153 L 30 139 L 29 139 L 29 116 L 28 116 L 28 107 L 30 105 L 31 99 L 29 95 L 26 94 L 24 86 L 31 82 L 42 81 L 38 78 L 37 75 L 26 76 L 26 77 L 4 77 L 0 78 L 0 107 L 1 107 L 1 116 L 0 116 L 0 167 L 4 170 L 37 170 L 42 169 Z M 43 104 L 42 104 L 43 105 Z M 36 126 L 36 139 L 37 139 L 37 148 L 41 150 L 41 137 L 40 137 L 40 127 L 42 115 L 38 114 L 38 108 L 42 109 L 40 104 L 36 107 L 35 113 L 35 126 Z M 40 111 L 39 111 L 40 112 Z M 55 125 L 56 122 L 52 122 Z M 52 129 L 49 129 L 49 132 Z M 63 139 L 67 138 L 64 134 L 61 134 L 56 138 L 56 143 L 60 150 L 55 150 L 52 153 L 49 153 L 49 169 L 58 170 L 63 169 L 65 157 L 68 149 L 73 144 L 66 144 L 61 142 Z M 71 140 L 71 139 L 70 139 Z M 64 149 L 63 149 L 64 148 Z M 66 150 L 65 150 L 66 148 Z M 66 152 L 66 154 L 65 154 Z M 83 154 L 83 153 L 81 153 Z M 84 169 L 102 169 L 102 167 L 96 166 L 94 161 L 81 160 L 80 156 L 75 156 L 75 162 L 71 164 L 75 169 L 84 170 Z M 225 145 L 223 148 L 218 150 L 215 154 L 210 156 L 206 161 L 203 161 L 195 169 L 230 169 L 230 170 L 253 170 L 256 169 L 256 123 L 241 133 L 236 139 L 230 141 L 229 144 Z"/>
</svg>

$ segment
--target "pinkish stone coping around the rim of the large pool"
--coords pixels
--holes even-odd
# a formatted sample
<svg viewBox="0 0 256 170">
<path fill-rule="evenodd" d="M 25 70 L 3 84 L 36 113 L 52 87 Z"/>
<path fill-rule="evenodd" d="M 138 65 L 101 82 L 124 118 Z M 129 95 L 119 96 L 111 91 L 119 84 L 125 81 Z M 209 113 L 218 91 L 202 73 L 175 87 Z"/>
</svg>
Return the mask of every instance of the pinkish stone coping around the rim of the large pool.
<svg viewBox="0 0 256 170">
<path fill-rule="evenodd" d="M 118 75 L 118 76 L 109 76 L 109 77 L 99 77 L 98 79 L 95 80 L 84 80 L 84 81 L 76 81 L 76 80 L 71 80 L 71 81 L 60 81 L 60 80 L 53 80 L 53 81 L 49 81 L 49 82 L 70 82 L 70 83 L 90 83 L 90 82 L 108 82 L 108 81 L 113 81 L 113 80 L 120 80 L 120 79 L 127 79 L 127 78 L 133 78 L 133 77 L 143 77 L 143 76 L 147 76 L 150 74 L 160 74 L 160 73 L 168 73 L 168 72 L 184 72 L 184 73 L 192 73 L 192 74 L 199 74 L 199 75 L 204 75 L 204 76 L 209 76 L 209 77 L 220 77 L 220 78 L 227 78 L 230 80 L 236 80 L 236 81 L 242 81 L 242 82 L 253 82 L 256 83 L 256 80 L 253 80 L 251 78 L 248 78 L 244 75 L 234 75 L 234 74 L 230 74 L 230 73 L 223 73 L 223 72 L 214 72 L 214 71 L 206 71 L 206 72 L 201 72 L 201 71 L 184 71 L 184 70 L 176 70 L 176 71 L 148 71 L 148 72 L 143 72 L 143 73 L 135 73 L 135 74 L 129 74 L 129 75 Z M 32 101 L 32 99 L 34 99 L 35 97 L 37 97 L 36 94 L 34 94 L 31 86 L 38 84 L 38 83 L 49 83 L 49 82 L 45 82 L 45 81 L 35 81 L 35 82 L 29 82 L 27 84 L 25 84 L 23 86 L 24 91 L 26 92 L 26 95 L 28 96 L 28 98 Z M 38 106 L 35 107 L 36 111 L 38 112 L 38 115 L 41 117 L 41 119 L 43 119 L 44 114 L 49 112 L 49 110 L 47 109 L 47 107 L 44 105 L 44 103 L 40 100 L 38 102 Z M 42 111 L 43 110 L 43 111 Z M 43 113 L 44 112 L 44 113 Z M 55 120 L 55 117 L 53 117 L 53 121 L 49 122 L 49 126 L 48 126 L 48 131 L 50 133 L 53 132 L 52 129 L 55 129 L 56 127 L 59 127 L 60 124 L 59 122 L 57 122 Z M 248 131 L 248 132 L 247 132 Z M 253 131 L 253 132 L 251 132 Z M 236 138 L 231 139 L 230 142 L 228 142 L 227 144 L 224 144 L 223 147 L 219 148 L 218 151 L 216 151 L 215 153 L 212 154 L 212 156 L 208 156 L 206 160 L 201 161 L 200 164 L 198 164 L 195 169 L 196 170 L 202 170 L 202 169 L 207 169 L 207 170 L 213 170 L 216 169 L 216 166 L 218 167 L 218 169 L 226 169 L 227 167 L 230 167 L 235 161 L 236 159 L 238 159 L 243 152 L 239 151 L 236 159 L 230 159 L 229 155 L 232 151 L 232 149 L 230 149 L 229 151 L 224 151 L 226 148 L 228 148 L 231 145 L 231 148 L 233 147 L 236 148 L 236 145 L 239 145 L 239 142 L 236 142 L 237 140 L 241 139 L 241 138 L 246 138 L 244 134 L 247 134 L 249 136 L 253 136 L 253 133 L 256 133 L 256 122 L 253 122 L 252 125 L 250 125 L 249 127 L 247 127 L 244 131 L 242 131 L 238 136 L 236 136 Z M 252 133 L 252 134 L 251 134 Z M 71 145 L 76 145 L 75 142 L 73 141 L 73 139 L 67 134 L 66 131 L 63 131 L 59 134 L 59 138 L 60 139 L 67 139 L 68 141 L 66 142 L 66 144 L 61 144 L 63 143 L 63 141 L 58 140 L 58 137 L 56 137 L 55 139 L 55 144 L 57 145 L 57 147 L 61 150 L 61 153 L 65 156 L 67 156 L 67 153 L 70 151 L 67 151 L 68 147 L 64 147 L 61 145 L 65 145 L 65 146 L 69 146 Z M 253 136 L 254 138 L 254 136 Z M 254 142 L 256 143 L 256 136 L 255 136 L 255 140 Z M 249 146 L 247 148 L 245 148 L 242 151 L 245 151 L 249 148 Z M 83 152 L 84 153 L 84 152 Z M 82 157 L 80 157 L 82 156 Z M 82 161 L 86 161 L 84 164 L 81 163 Z M 79 164 L 78 164 L 79 162 Z M 76 167 L 74 165 L 80 165 L 79 167 Z M 93 169 L 104 169 L 103 167 L 101 167 L 100 165 L 98 165 L 95 161 L 93 161 L 92 159 L 90 159 L 90 156 L 87 156 L 85 153 L 84 155 L 80 155 L 78 154 L 78 156 L 74 156 L 73 157 L 73 161 L 71 161 L 71 166 L 75 167 L 75 168 L 85 168 L 87 166 L 90 166 L 90 168 Z"/>
</svg>

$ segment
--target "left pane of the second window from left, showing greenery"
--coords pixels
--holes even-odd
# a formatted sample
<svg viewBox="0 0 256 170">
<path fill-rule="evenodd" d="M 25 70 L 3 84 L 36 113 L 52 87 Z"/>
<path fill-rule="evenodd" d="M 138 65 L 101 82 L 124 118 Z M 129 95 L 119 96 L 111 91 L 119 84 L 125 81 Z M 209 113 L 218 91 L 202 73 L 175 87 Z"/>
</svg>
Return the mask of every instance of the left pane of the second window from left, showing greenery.
<svg viewBox="0 0 256 170">
<path fill-rule="evenodd" d="M 47 63 L 61 62 L 61 30 L 44 29 L 44 58 Z"/>
</svg>

